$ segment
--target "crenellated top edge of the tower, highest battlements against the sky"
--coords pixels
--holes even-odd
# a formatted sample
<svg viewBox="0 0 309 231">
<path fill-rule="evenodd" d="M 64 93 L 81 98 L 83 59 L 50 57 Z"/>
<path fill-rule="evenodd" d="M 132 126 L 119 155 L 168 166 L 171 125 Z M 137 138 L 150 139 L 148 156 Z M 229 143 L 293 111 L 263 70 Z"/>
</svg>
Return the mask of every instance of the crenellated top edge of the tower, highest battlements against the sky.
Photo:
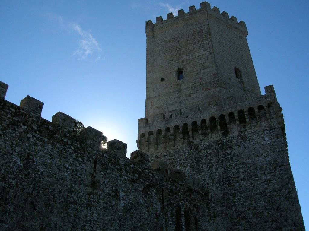
<svg viewBox="0 0 309 231">
<path fill-rule="evenodd" d="M 194 17 L 198 14 L 208 14 L 210 17 L 214 17 L 217 20 L 220 20 L 224 23 L 227 23 L 235 28 L 243 31 L 244 33 L 248 34 L 246 24 L 243 21 L 237 20 L 236 17 L 231 16 L 229 17 L 228 13 L 223 11 L 220 14 L 220 10 L 218 7 L 214 6 L 213 8 L 210 7 L 210 3 L 208 2 L 201 2 L 200 9 L 196 9 L 195 6 L 189 6 L 189 12 L 185 13 L 183 9 L 178 10 L 178 15 L 174 16 L 173 13 L 168 13 L 166 15 L 166 20 L 163 20 L 162 16 L 156 18 L 156 22 L 153 23 L 151 20 L 146 21 L 146 31 L 151 30 L 156 26 L 165 25 L 169 22 L 177 22 L 178 20 L 182 20 L 184 18 Z M 146 32 L 147 33 L 147 32 Z"/>
</svg>

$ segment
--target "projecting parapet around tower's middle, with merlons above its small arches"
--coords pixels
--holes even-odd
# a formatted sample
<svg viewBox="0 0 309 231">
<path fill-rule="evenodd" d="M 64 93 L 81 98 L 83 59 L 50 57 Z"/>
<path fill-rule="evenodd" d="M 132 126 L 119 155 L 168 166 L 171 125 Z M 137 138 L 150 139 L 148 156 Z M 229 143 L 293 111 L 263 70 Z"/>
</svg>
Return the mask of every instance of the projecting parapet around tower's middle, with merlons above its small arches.
<svg viewBox="0 0 309 231">
<path fill-rule="evenodd" d="M 231 99 L 230 99 L 231 100 Z M 173 149 L 179 145 L 191 145 L 236 136 L 259 128 L 280 127 L 284 130 L 282 108 L 277 103 L 273 86 L 265 87 L 265 95 L 241 103 L 207 107 L 196 111 L 180 109 L 155 115 L 149 123 L 138 120 L 138 149 L 146 153 Z M 218 114 L 218 112 L 220 114 Z M 285 133 L 282 133 L 285 139 Z"/>
</svg>

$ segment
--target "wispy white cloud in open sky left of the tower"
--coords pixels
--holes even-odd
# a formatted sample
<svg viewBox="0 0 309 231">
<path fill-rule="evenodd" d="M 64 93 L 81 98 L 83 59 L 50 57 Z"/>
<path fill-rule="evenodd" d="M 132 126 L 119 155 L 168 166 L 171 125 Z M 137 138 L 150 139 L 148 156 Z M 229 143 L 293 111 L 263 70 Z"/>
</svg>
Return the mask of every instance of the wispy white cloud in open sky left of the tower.
<svg viewBox="0 0 309 231">
<path fill-rule="evenodd" d="M 99 43 L 89 32 L 82 30 L 82 28 L 75 23 L 70 23 L 70 27 L 80 36 L 79 48 L 73 52 L 72 56 L 82 60 L 86 59 L 88 55 L 94 52 L 101 52 Z M 99 61 L 99 59 L 98 57 L 95 61 Z"/>
</svg>

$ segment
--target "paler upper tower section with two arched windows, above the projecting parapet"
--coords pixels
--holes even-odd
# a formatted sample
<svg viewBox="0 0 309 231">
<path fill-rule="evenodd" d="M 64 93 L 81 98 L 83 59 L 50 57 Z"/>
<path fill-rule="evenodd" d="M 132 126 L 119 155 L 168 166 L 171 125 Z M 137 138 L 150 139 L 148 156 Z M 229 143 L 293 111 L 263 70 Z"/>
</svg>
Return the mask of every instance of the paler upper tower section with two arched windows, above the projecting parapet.
<svg viewBox="0 0 309 231">
<path fill-rule="evenodd" d="M 146 118 L 260 95 L 244 22 L 207 2 L 146 22 Z"/>
</svg>

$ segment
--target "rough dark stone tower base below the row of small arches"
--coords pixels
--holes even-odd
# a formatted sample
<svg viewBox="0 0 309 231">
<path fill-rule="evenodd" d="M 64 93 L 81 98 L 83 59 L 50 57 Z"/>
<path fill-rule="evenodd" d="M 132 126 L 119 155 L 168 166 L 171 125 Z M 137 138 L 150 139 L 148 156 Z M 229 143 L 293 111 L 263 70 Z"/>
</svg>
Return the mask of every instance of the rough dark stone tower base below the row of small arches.
<svg viewBox="0 0 309 231">
<path fill-rule="evenodd" d="M 305 230 L 279 127 L 254 128 L 168 151 L 150 160 L 201 179 L 209 191 L 210 230 Z"/>
</svg>

